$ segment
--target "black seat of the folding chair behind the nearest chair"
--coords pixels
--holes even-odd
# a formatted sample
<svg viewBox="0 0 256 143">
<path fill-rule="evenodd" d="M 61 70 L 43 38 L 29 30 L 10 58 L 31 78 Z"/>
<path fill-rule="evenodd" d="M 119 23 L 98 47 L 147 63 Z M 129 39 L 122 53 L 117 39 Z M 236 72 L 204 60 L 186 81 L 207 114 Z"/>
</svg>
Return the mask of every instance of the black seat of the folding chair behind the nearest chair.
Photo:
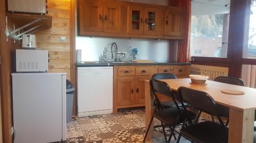
<svg viewBox="0 0 256 143">
<path fill-rule="evenodd" d="M 185 109 L 182 107 L 180 107 L 180 109 L 182 114 L 185 115 Z M 177 109 L 177 107 L 173 107 L 173 108 L 166 108 L 166 109 L 155 111 L 153 116 L 156 119 L 162 121 L 164 124 L 170 125 L 176 121 L 179 114 L 180 112 Z M 189 114 L 191 119 L 195 119 L 197 117 L 197 115 L 191 111 L 189 111 Z M 182 121 L 180 121 L 179 123 L 181 122 Z"/>
</svg>

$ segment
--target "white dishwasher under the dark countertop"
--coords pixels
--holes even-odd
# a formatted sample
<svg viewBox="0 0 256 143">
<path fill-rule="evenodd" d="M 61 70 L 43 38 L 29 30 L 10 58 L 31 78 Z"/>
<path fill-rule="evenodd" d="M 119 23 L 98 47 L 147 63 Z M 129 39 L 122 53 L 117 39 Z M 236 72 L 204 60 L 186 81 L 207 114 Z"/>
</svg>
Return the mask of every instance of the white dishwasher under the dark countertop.
<svg viewBox="0 0 256 143">
<path fill-rule="evenodd" d="M 113 67 L 77 68 L 78 117 L 113 113 Z"/>
</svg>

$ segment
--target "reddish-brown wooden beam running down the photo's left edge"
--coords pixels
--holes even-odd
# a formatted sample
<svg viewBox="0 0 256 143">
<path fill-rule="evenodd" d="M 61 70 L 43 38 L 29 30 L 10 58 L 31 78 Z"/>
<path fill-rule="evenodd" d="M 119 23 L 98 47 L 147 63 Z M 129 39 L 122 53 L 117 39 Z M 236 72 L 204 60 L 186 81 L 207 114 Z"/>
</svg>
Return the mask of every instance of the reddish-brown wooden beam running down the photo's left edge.
<svg viewBox="0 0 256 143">
<path fill-rule="evenodd" d="M 2 119 L 3 119 L 3 142 L 11 143 L 11 127 L 12 127 L 12 100 L 11 100 L 11 73 L 12 73 L 12 52 L 20 48 L 19 43 L 13 42 L 13 39 L 9 38 L 6 41 L 5 34 L 5 15 L 6 15 L 6 1 L 0 0 L 0 34 L 1 34 L 1 99 L 2 99 Z M 8 23 L 13 24 L 11 20 Z M 16 27 L 18 27 L 16 25 Z"/>
</svg>

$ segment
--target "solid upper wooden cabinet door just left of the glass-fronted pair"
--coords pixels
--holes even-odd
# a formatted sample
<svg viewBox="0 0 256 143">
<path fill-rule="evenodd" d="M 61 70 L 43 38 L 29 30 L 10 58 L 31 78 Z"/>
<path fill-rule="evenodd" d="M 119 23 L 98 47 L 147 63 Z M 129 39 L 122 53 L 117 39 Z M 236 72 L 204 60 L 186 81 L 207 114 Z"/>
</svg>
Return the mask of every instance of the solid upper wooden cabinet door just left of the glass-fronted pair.
<svg viewBox="0 0 256 143">
<path fill-rule="evenodd" d="M 103 31 L 110 32 L 110 33 L 120 33 L 121 5 L 104 3 L 103 13 L 104 13 Z"/>
</svg>

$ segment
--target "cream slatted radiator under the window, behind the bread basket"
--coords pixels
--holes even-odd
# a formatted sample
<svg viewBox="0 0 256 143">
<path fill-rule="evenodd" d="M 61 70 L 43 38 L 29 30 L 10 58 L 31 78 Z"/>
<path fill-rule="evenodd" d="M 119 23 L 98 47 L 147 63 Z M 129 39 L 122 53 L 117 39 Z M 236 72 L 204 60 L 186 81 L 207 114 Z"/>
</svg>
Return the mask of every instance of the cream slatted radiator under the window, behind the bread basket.
<svg viewBox="0 0 256 143">
<path fill-rule="evenodd" d="M 226 67 L 192 65 L 191 69 L 194 69 L 194 71 L 196 70 L 201 75 L 209 76 L 208 80 L 214 80 L 218 76 L 228 75 L 228 68 Z"/>
</svg>

